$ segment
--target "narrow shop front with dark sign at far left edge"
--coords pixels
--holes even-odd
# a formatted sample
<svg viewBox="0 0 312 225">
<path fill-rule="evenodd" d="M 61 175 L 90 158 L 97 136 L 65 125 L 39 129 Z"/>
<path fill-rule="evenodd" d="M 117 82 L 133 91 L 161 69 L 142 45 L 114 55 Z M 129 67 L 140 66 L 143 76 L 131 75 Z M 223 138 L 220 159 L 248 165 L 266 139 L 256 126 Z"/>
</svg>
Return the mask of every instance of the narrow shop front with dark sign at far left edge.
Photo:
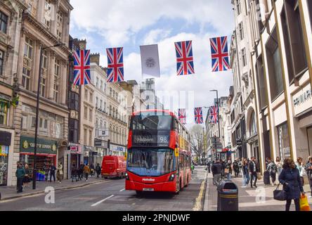
<svg viewBox="0 0 312 225">
<path fill-rule="evenodd" d="M 8 154 L 12 134 L 0 131 L 0 186 L 8 185 Z"/>
</svg>

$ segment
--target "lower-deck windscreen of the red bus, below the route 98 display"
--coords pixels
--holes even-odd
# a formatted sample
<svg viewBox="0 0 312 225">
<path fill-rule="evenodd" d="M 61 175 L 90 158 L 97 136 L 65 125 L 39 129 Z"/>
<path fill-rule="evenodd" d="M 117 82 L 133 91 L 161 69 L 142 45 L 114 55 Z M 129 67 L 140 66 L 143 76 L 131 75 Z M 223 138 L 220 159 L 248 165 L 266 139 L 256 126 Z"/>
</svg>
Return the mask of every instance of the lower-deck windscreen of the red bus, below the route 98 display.
<svg viewBox="0 0 312 225">
<path fill-rule="evenodd" d="M 161 176 L 174 171 L 174 151 L 167 149 L 128 150 L 129 172 L 139 176 Z"/>
</svg>

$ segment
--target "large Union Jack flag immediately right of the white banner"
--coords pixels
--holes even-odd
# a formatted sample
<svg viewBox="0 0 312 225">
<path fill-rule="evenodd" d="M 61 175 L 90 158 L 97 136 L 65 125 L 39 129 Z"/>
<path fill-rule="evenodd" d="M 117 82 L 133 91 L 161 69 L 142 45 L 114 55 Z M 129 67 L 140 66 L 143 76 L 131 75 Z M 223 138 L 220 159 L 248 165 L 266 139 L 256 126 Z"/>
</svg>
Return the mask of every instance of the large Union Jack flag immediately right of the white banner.
<svg viewBox="0 0 312 225">
<path fill-rule="evenodd" d="M 192 41 L 176 42 L 176 71 L 177 75 L 192 75 L 195 73 Z"/>
</svg>

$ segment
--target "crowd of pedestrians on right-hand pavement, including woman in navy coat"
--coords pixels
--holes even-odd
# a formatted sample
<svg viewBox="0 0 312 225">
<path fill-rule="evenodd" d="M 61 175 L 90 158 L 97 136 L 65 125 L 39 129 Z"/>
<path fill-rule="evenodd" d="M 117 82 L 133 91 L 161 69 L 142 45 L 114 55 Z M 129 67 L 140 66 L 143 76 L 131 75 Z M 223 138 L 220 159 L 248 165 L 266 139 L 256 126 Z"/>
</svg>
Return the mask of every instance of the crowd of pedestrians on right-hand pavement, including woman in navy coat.
<svg viewBox="0 0 312 225">
<path fill-rule="evenodd" d="M 233 174 L 235 177 L 242 176 L 242 188 L 247 188 L 249 184 L 251 188 L 257 188 L 256 182 L 262 179 L 259 162 L 254 157 L 237 158 L 233 163 L 230 158 L 228 160 L 217 159 L 215 162 L 209 161 L 207 166 L 207 171 L 212 172 L 213 184 L 216 186 L 219 186 L 223 180 L 231 181 Z M 290 210 L 292 200 L 294 200 L 296 210 L 299 211 L 300 199 L 306 198 L 305 179 L 308 180 L 311 189 L 311 195 L 308 198 L 312 198 L 312 156 L 307 162 L 304 162 L 303 158 L 297 158 L 296 162 L 292 159 L 285 159 L 282 162 L 279 157 L 275 161 L 266 158 L 263 179 L 265 185 L 282 184 L 283 191 L 286 193 L 286 211 Z"/>
</svg>

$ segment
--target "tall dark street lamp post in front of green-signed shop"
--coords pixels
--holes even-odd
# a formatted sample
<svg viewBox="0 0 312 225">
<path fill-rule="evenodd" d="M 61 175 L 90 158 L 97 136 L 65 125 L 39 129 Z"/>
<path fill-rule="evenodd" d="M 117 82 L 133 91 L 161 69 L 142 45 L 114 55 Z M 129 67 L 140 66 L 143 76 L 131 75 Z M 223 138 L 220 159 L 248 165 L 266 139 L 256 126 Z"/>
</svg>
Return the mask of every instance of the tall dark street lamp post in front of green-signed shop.
<svg viewBox="0 0 312 225">
<path fill-rule="evenodd" d="M 58 43 L 53 46 L 48 46 L 40 48 L 40 60 L 39 60 L 39 75 L 38 75 L 38 88 L 37 88 L 37 108 L 36 108 L 36 127 L 34 129 L 34 167 L 32 172 L 32 189 L 36 189 L 36 179 L 37 179 L 37 142 L 38 142 L 38 122 L 39 122 L 39 101 L 40 101 L 40 91 L 41 91 L 41 67 L 42 67 L 42 54 L 45 49 L 51 49 L 58 46 L 64 46 L 64 43 Z"/>
</svg>

